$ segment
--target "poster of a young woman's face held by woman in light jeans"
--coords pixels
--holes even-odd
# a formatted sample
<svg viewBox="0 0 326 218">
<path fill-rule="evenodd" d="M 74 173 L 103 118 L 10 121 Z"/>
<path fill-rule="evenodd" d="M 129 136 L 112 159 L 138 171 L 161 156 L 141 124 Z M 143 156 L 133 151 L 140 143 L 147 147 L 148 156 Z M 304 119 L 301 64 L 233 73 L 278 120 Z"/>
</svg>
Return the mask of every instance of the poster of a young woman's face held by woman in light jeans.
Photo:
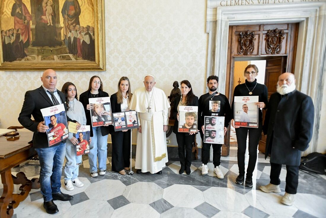
<svg viewBox="0 0 326 218">
<path fill-rule="evenodd" d="M 92 117 L 92 127 L 111 125 L 112 113 L 110 97 L 90 98 L 90 104 L 93 104 L 93 109 L 90 111 Z"/>
</svg>

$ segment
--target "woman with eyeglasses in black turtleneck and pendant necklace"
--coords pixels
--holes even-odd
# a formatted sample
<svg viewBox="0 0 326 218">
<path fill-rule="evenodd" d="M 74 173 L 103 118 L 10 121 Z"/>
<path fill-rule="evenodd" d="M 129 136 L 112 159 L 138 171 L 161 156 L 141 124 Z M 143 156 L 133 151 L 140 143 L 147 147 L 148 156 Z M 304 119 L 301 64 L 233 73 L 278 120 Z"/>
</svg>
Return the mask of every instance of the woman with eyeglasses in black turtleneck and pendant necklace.
<svg viewBox="0 0 326 218">
<path fill-rule="evenodd" d="M 249 162 L 247 168 L 247 174 L 245 178 L 245 186 L 252 187 L 252 174 L 255 169 L 257 161 L 257 147 L 262 131 L 262 110 L 267 106 L 267 87 L 264 84 L 257 83 L 256 76 L 258 75 L 258 68 L 254 64 L 248 65 L 244 69 L 244 77 L 246 78 L 243 84 L 239 84 L 234 88 L 232 111 L 234 111 L 234 96 L 258 96 L 258 128 L 249 127 L 235 127 L 234 126 L 234 113 L 232 113 L 232 126 L 235 128 L 237 143 L 238 143 L 238 166 L 239 176 L 235 180 L 235 183 L 242 185 L 244 183 L 244 154 L 247 144 L 247 135 L 249 134 L 248 150 L 249 150 Z M 245 105 L 244 105 L 245 106 Z M 246 108 L 247 110 L 248 108 Z M 244 109 L 245 110 L 245 109 Z"/>
</svg>

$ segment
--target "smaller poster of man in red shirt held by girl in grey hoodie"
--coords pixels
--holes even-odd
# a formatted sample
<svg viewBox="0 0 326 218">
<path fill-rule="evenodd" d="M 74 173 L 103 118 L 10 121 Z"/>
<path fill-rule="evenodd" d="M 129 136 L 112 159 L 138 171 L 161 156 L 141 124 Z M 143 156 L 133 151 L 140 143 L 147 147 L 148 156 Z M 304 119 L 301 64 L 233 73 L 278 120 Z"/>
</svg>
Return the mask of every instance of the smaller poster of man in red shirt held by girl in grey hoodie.
<svg viewBox="0 0 326 218">
<path fill-rule="evenodd" d="M 91 143 L 90 129 L 91 127 L 89 125 L 81 126 L 77 133 L 73 134 L 73 136 L 78 140 L 78 144 L 76 145 L 77 156 L 89 153 L 89 144 Z"/>
</svg>

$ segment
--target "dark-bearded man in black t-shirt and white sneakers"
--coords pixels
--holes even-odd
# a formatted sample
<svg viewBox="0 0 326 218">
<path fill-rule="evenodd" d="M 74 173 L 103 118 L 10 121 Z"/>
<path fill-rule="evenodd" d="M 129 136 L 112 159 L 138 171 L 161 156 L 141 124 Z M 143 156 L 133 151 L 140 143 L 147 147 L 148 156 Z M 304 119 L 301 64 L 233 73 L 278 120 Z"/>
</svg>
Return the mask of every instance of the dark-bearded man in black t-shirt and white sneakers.
<svg viewBox="0 0 326 218">
<path fill-rule="evenodd" d="M 202 139 L 202 148 L 201 148 L 201 160 L 202 164 L 199 169 L 201 169 L 202 175 L 208 173 L 207 163 L 209 161 L 209 150 L 212 145 L 213 147 L 213 164 L 214 164 L 214 173 L 217 178 L 224 179 L 224 175 L 219 167 L 221 163 L 221 144 L 210 144 L 204 143 L 204 117 L 205 116 L 216 116 L 216 117 L 225 117 L 224 119 L 224 134 L 227 131 L 229 122 L 231 120 L 231 107 L 228 98 L 216 92 L 218 86 L 218 77 L 209 76 L 207 78 L 207 87 L 209 92 L 200 96 L 199 98 L 199 107 L 198 107 L 198 125 L 201 127 L 200 136 Z M 215 93 L 213 95 L 213 93 Z M 219 101 L 219 111 L 210 110 L 210 101 Z"/>
</svg>

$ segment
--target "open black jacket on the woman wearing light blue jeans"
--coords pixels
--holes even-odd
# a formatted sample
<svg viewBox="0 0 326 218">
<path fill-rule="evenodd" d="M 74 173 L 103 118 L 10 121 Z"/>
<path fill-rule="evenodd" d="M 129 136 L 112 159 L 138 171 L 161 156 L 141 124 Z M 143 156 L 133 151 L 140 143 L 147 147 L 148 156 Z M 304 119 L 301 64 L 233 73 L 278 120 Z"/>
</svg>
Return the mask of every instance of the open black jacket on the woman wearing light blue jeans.
<svg viewBox="0 0 326 218">
<path fill-rule="evenodd" d="M 101 90 L 98 90 L 98 98 L 101 97 L 109 97 L 109 94 L 106 92 L 103 92 Z M 86 114 L 86 125 L 90 125 L 91 126 L 91 137 L 93 137 L 93 128 L 92 128 L 92 117 L 91 117 L 91 113 L 89 112 L 89 110 L 86 109 L 87 104 L 89 104 L 88 99 L 89 98 L 93 98 L 93 96 L 91 95 L 90 91 L 86 91 L 83 92 L 80 96 L 79 96 L 79 101 L 82 102 L 82 105 L 84 106 L 84 110 L 85 110 L 85 114 Z M 110 132 L 109 130 L 109 126 L 101 126 L 101 134 L 102 136 L 104 135 L 108 135 Z"/>
</svg>

